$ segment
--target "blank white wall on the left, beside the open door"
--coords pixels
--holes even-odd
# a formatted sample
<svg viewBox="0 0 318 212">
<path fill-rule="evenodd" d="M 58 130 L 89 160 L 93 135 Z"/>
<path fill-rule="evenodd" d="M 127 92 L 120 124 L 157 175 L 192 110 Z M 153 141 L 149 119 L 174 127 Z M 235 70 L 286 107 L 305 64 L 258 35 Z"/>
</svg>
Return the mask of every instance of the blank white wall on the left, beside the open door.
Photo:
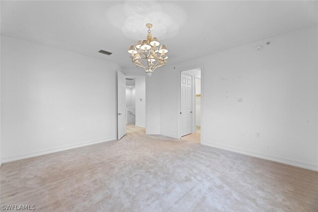
<svg viewBox="0 0 318 212">
<path fill-rule="evenodd" d="M 1 35 L 2 162 L 116 139 L 117 69 Z"/>
</svg>

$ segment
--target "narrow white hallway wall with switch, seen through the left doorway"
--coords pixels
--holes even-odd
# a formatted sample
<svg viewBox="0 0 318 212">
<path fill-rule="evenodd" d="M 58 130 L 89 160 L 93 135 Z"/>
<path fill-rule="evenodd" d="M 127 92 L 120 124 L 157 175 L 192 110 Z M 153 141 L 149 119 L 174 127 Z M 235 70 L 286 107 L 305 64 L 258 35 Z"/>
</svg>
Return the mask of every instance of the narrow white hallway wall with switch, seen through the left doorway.
<svg viewBox="0 0 318 212">
<path fill-rule="evenodd" d="M 146 78 L 145 76 L 135 77 L 136 87 L 136 126 L 146 127 Z M 142 99 L 142 101 L 140 101 Z"/>
</svg>

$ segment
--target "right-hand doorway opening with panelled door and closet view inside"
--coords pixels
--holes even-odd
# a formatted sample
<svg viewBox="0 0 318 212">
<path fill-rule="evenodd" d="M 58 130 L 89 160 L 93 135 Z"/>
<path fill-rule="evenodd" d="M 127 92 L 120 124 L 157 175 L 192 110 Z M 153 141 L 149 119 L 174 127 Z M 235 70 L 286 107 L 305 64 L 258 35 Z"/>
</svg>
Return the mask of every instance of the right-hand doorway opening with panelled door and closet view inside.
<svg viewBox="0 0 318 212">
<path fill-rule="evenodd" d="M 201 142 L 201 68 L 180 72 L 180 137 Z"/>
</svg>

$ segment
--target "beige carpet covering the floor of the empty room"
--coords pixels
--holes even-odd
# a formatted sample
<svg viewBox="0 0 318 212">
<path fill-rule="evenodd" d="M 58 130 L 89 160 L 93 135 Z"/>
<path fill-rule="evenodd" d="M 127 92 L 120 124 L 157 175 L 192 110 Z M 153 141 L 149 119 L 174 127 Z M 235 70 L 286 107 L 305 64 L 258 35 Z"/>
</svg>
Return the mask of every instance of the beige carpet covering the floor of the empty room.
<svg viewBox="0 0 318 212">
<path fill-rule="evenodd" d="M 0 170 L 1 205 L 37 211 L 318 211 L 318 172 L 142 128 Z"/>
</svg>

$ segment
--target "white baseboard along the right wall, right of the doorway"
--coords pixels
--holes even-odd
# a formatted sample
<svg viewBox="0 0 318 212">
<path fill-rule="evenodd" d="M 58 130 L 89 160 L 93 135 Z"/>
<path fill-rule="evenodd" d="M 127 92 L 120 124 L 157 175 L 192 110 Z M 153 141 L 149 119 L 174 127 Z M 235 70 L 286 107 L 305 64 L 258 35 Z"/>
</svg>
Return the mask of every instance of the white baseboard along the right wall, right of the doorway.
<svg viewBox="0 0 318 212">
<path fill-rule="evenodd" d="M 226 145 L 222 145 L 222 144 L 217 144 L 217 143 L 211 143 L 211 142 L 207 142 L 207 141 L 204 141 L 204 142 L 201 141 L 201 144 L 207 145 L 207 146 L 212 146 L 215 148 L 225 149 L 228 151 L 233 151 L 233 152 L 237 152 L 240 154 L 245 154 L 245 155 L 249 155 L 249 156 L 253 156 L 253 157 L 258 157 L 258 158 L 262 158 L 262 159 L 266 159 L 266 160 L 271 160 L 271 161 L 275 161 L 275 162 L 279 162 L 279 163 L 284 163 L 287 165 L 292 165 L 292 166 L 297 166 L 297 167 L 301 167 L 301 168 L 305 168 L 305 169 L 310 169 L 313 171 L 318 171 L 318 165 L 306 163 L 306 162 L 299 161 L 299 160 L 267 155 L 267 154 L 263 154 L 260 152 L 250 151 L 247 149 L 239 149 L 239 148 L 226 146 Z"/>
</svg>

